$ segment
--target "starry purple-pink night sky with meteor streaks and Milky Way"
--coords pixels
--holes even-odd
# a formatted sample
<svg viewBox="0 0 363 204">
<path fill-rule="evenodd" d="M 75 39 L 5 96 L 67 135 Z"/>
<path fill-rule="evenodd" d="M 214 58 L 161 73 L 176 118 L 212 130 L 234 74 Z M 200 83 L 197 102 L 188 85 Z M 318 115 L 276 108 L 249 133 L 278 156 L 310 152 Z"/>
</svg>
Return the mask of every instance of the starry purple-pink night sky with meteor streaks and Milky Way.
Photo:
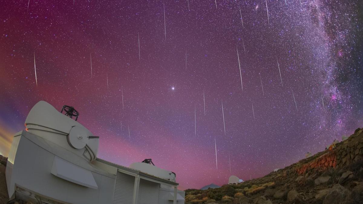
<svg viewBox="0 0 363 204">
<path fill-rule="evenodd" d="M 40 100 L 74 106 L 100 136 L 99 158 L 152 158 L 181 189 L 263 176 L 363 126 L 360 0 L 8 0 L 0 9 L 5 156 Z"/>
</svg>

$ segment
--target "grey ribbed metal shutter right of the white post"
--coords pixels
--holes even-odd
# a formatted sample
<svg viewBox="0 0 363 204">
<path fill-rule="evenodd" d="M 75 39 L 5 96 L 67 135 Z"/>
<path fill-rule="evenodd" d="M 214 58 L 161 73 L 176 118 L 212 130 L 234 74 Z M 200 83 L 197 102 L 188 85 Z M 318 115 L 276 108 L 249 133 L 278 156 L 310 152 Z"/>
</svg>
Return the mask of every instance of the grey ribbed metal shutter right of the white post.
<svg viewBox="0 0 363 204">
<path fill-rule="evenodd" d="M 160 184 L 140 179 L 138 204 L 158 204 Z"/>
</svg>

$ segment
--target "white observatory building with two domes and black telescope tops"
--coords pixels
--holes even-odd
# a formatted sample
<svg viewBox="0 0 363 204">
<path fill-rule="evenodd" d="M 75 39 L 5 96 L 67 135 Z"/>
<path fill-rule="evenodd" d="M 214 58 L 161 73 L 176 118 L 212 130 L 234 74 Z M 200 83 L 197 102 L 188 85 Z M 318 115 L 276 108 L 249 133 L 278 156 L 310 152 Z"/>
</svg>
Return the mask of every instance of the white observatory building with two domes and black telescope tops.
<svg viewBox="0 0 363 204">
<path fill-rule="evenodd" d="M 65 113 L 65 114 L 62 114 Z M 130 167 L 97 158 L 99 137 L 77 122 L 78 112 L 61 113 L 38 102 L 15 134 L 6 167 L 10 200 L 77 204 L 184 204 L 175 173 L 151 159 Z"/>
</svg>

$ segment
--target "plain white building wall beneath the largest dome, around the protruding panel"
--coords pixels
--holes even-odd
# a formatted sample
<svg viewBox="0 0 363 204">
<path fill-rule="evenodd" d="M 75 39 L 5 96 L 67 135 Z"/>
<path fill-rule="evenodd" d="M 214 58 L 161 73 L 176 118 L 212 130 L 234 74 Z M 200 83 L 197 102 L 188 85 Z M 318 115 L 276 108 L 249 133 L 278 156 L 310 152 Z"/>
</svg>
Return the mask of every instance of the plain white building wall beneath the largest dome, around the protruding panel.
<svg viewBox="0 0 363 204">
<path fill-rule="evenodd" d="M 67 203 L 112 203 L 115 180 L 92 172 L 98 189 L 92 189 L 58 178 L 51 174 L 54 154 L 30 141 L 20 138 L 11 172 L 10 186 L 34 191 L 42 196 Z M 8 172 L 9 173 L 9 172 Z M 9 194 L 12 191 L 9 191 Z M 11 195 L 10 195 L 11 196 Z"/>
</svg>

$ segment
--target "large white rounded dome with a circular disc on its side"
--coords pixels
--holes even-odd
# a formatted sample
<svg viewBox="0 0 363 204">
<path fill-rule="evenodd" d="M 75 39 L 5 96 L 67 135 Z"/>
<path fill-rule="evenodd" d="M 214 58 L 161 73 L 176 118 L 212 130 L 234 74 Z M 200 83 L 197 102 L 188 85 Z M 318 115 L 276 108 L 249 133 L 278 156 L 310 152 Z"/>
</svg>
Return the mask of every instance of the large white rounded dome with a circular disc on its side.
<svg viewBox="0 0 363 204">
<path fill-rule="evenodd" d="M 97 158 L 99 137 L 74 119 L 39 101 L 25 120 L 25 130 L 93 161 Z"/>
</svg>

